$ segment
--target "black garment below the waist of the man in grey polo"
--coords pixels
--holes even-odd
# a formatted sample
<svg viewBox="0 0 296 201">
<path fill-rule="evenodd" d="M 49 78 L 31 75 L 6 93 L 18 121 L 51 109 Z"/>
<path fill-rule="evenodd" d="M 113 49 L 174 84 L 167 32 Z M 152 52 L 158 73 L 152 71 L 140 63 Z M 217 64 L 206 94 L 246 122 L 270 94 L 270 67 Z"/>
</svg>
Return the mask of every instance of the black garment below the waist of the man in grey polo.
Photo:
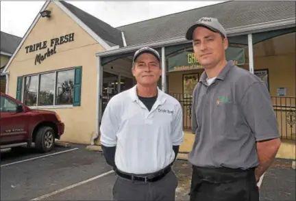
<svg viewBox="0 0 296 201">
<path fill-rule="evenodd" d="M 193 166 L 190 201 L 259 201 L 254 168 Z"/>
</svg>

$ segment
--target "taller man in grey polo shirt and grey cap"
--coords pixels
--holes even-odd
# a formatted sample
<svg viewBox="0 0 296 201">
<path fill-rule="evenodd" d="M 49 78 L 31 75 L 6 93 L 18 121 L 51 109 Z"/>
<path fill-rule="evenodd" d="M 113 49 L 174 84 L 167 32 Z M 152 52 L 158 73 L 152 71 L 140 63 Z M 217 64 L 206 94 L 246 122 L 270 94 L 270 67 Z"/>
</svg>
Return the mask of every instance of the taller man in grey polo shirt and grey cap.
<svg viewBox="0 0 296 201">
<path fill-rule="evenodd" d="M 204 67 L 193 91 L 190 200 L 258 201 L 256 183 L 280 147 L 267 87 L 227 62 L 227 35 L 216 18 L 201 18 L 186 38 Z"/>
</svg>

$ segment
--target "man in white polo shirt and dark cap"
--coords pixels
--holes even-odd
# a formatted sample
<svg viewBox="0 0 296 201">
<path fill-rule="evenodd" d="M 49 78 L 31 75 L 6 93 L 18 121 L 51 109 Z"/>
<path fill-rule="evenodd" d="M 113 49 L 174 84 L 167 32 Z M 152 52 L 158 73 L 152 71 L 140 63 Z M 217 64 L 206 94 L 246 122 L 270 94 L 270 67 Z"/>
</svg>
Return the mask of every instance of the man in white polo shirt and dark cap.
<svg viewBox="0 0 296 201">
<path fill-rule="evenodd" d="M 116 200 L 175 200 L 171 165 L 183 142 L 182 107 L 158 89 L 160 55 L 149 47 L 134 54 L 137 84 L 114 96 L 101 121 L 101 144 L 117 174 Z"/>
</svg>

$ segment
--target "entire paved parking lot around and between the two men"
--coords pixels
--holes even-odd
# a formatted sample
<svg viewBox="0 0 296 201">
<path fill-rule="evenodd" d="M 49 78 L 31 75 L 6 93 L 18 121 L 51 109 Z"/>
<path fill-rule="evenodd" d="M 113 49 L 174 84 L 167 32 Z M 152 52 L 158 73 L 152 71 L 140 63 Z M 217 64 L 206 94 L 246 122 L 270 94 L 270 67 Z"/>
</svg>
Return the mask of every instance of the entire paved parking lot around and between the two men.
<svg viewBox="0 0 296 201">
<path fill-rule="evenodd" d="M 264 176 L 260 200 L 295 200 L 295 170 L 285 164 L 291 161 L 277 161 Z M 191 167 L 176 161 L 173 169 L 176 200 L 188 200 Z M 114 181 L 101 152 L 85 146 L 42 155 L 26 148 L 1 153 L 1 200 L 111 200 Z"/>
</svg>

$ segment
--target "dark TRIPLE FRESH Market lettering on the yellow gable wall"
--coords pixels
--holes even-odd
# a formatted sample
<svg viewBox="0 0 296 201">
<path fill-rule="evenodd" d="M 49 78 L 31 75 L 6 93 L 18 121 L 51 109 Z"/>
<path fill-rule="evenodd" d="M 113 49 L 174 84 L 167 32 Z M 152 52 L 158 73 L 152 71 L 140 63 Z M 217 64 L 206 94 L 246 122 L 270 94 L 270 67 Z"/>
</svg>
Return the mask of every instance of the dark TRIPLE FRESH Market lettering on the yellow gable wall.
<svg viewBox="0 0 296 201">
<path fill-rule="evenodd" d="M 58 38 L 52 38 L 49 43 L 47 43 L 47 40 L 43 42 L 38 42 L 36 44 L 31 44 L 25 47 L 26 53 L 32 53 L 34 51 L 39 51 L 42 49 L 47 49 L 46 53 L 38 53 L 35 57 L 35 65 L 37 63 L 41 64 L 47 57 L 50 57 L 51 55 L 56 54 L 56 46 L 60 44 L 64 44 L 67 42 L 74 41 L 74 33 L 72 34 L 66 34 L 64 36 L 60 36 Z"/>
</svg>

